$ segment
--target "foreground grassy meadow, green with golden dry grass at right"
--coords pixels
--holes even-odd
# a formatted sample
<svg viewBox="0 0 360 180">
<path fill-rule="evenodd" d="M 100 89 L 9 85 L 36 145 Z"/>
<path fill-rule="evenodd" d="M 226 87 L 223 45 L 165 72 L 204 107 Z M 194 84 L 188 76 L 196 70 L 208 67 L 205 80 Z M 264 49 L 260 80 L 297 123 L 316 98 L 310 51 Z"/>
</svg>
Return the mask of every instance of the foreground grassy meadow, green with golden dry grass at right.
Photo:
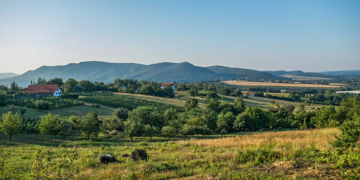
<svg viewBox="0 0 360 180">
<path fill-rule="evenodd" d="M 284 129 L 285 130 L 285 129 Z M 268 130 L 272 131 L 272 130 Z M 118 179 L 188 179 L 226 177 L 226 179 L 286 179 L 290 176 L 300 179 L 328 179 L 338 177 L 341 169 L 332 168 L 333 164 L 318 164 L 316 171 L 326 174 L 306 175 L 314 169 L 311 161 L 304 159 L 312 148 L 333 150 L 329 143 L 338 134 L 337 129 L 311 131 L 252 132 L 233 133 L 224 138 L 220 135 L 191 136 L 187 140 L 182 136 L 171 138 L 124 138 L 122 135 L 110 138 L 93 137 L 92 145 L 86 138 L 79 136 L 54 137 L 50 143 L 47 135 L 19 134 L 0 136 L 0 149 L 10 150 L 10 159 L 6 166 L 18 166 L 21 177 L 32 179 L 32 158 L 35 148 L 41 147 L 57 159 L 78 152 L 79 158 L 74 162 L 80 168 L 76 175 L 78 180 L 118 180 Z M 147 141 L 147 143 L 140 143 Z M 121 157 L 131 154 L 135 148 L 146 149 L 149 154 L 147 161 L 134 162 L 130 158 Z M 260 156 L 258 151 L 260 150 Z M 119 162 L 101 164 L 98 156 L 101 153 L 112 153 Z M 261 157 L 258 161 L 256 157 Z M 275 168 L 276 161 L 287 162 L 294 159 L 296 166 L 292 169 Z M 242 174 L 238 174 L 242 172 Z M 56 172 L 51 176 L 54 177 Z M 229 176 L 232 174 L 231 176 Z M 251 178 L 250 178 L 251 177 Z"/>
</svg>

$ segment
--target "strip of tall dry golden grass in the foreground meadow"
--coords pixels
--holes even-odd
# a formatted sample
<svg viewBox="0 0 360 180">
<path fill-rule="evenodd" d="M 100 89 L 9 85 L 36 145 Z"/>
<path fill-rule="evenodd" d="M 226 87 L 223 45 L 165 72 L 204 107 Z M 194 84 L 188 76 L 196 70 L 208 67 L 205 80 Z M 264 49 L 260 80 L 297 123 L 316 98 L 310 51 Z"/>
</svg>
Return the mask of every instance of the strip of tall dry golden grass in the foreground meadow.
<svg viewBox="0 0 360 180">
<path fill-rule="evenodd" d="M 320 150 L 332 150 L 330 142 L 334 141 L 334 134 L 338 135 L 339 131 L 333 129 L 308 130 L 308 131 L 282 131 L 282 132 L 265 132 L 262 134 L 243 135 L 237 137 L 220 138 L 220 139 L 192 139 L 191 144 L 199 144 L 203 147 L 216 146 L 217 148 L 247 148 L 258 147 L 264 144 L 275 144 L 275 147 L 301 149 L 315 147 Z M 189 143 L 188 141 L 179 141 L 180 144 Z"/>
</svg>

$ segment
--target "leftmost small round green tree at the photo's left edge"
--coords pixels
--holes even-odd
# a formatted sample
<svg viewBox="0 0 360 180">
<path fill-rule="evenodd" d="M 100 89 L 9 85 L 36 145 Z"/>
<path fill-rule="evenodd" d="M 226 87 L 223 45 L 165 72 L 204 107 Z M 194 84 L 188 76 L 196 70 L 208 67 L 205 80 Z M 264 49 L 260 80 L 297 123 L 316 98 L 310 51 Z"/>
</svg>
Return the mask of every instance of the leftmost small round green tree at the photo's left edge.
<svg viewBox="0 0 360 180">
<path fill-rule="evenodd" d="M 11 136 L 19 133 L 22 130 L 22 120 L 17 113 L 8 112 L 4 113 L 1 117 L 0 131 L 4 134 Z"/>
</svg>

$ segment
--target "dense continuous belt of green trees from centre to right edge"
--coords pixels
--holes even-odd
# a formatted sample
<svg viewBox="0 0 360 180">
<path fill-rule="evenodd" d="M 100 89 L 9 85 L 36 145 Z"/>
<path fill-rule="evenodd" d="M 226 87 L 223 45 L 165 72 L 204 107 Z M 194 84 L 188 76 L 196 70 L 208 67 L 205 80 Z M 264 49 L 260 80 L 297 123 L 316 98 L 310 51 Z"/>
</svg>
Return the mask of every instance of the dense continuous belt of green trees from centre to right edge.
<svg viewBox="0 0 360 180">
<path fill-rule="evenodd" d="M 344 99 L 335 108 L 332 105 L 316 111 L 305 111 L 305 103 L 298 111 L 294 106 L 277 106 L 269 111 L 257 107 L 246 107 L 242 99 L 234 103 L 219 102 L 213 98 L 207 108 L 199 108 L 197 99 L 185 104 L 186 112 L 167 109 L 164 113 L 152 107 L 139 107 L 129 113 L 125 121 L 125 134 L 135 136 L 163 135 L 208 135 L 216 132 L 255 131 L 265 128 L 286 127 L 306 130 L 308 128 L 338 127 L 344 122 L 354 121 L 360 114 L 360 102 L 356 98 Z"/>
</svg>

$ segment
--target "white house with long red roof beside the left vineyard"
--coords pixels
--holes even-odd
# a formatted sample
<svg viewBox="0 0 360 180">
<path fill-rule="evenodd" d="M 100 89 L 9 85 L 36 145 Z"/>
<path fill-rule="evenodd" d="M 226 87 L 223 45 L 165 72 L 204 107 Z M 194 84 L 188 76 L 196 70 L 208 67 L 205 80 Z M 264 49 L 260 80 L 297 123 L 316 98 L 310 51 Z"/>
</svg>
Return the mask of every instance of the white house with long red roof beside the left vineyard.
<svg viewBox="0 0 360 180">
<path fill-rule="evenodd" d="M 37 97 L 59 97 L 63 94 L 63 90 L 57 84 L 29 85 L 25 94 L 29 93 L 36 93 Z"/>
</svg>

